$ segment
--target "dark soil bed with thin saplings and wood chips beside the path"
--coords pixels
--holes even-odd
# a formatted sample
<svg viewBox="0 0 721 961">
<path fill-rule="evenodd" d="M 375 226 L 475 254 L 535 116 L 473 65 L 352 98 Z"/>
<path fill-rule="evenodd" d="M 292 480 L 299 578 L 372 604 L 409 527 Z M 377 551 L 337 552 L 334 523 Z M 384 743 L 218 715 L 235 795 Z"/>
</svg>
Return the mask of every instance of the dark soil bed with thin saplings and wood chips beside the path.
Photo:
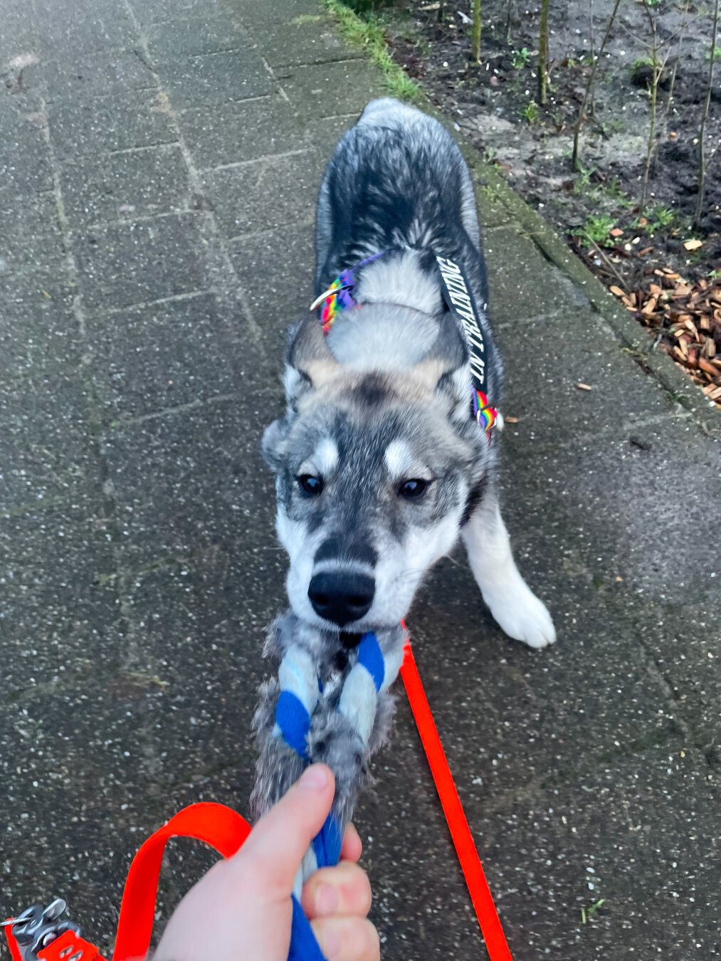
<svg viewBox="0 0 721 961">
<path fill-rule="evenodd" d="M 535 103 L 537 6 L 485 0 L 482 62 L 470 61 L 470 5 L 407 0 L 380 12 L 393 57 L 485 159 L 537 209 L 627 308 L 653 328 L 657 344 L 721 403 L 721 63 L 706 129 L 709 160 L 700 226 L 692 228 L 698 175 L 698 129 L 709 75 L 711 7 L 660 0 L 656 159 L 647 201 L 642 177 L 650 124 L 651 29 L 638 0 L 621 3 L 597 71 L 581 138 L 582 169 L 571 169 L 573 127 L 613 0 L 551 0 L 550 94 Z M 511 12 L 509 18 L 509 11 Z M 700 241 L 700 243 L 699 243 Z M 661 272 L 664 280 L 661 281 Z M 676 275 L 669 280 L 670 275 Z M 651 292 L 660 287 L 660 294 Z M 693 322 L 707 317 L 700 341 L 680 346 L 675 291 L 688 288 Z M 654 309 L 648 304 L 657 296 Z M 684 302 L 685 304 L 685 302 Z M 688 306 L 687 304 L 685 305 Z M 643 309 L 646 308 L 646 313 Z M 698 308 L 698 309 L 697 309 Z M 686 329 L 687 334 L 692 333 Z M 711 346 L 705 346 L 707 340 Z M 681 351 L 682 357 L 674 350 Z M 704 356 L 704 351 L 708 356 Z M 708 368 L 694 367 L 699 354 Z M 713 373 L 715 371 L 715 373 Z"/>
</svg>

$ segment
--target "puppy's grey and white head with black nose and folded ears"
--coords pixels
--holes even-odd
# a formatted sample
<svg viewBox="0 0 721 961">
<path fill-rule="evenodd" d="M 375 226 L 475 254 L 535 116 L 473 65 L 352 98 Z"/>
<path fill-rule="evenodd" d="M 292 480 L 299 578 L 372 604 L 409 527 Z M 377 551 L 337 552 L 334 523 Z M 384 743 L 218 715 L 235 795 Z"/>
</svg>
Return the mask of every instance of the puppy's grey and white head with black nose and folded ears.
<svg viewBox="0 0 721 961">
<path fill-rule="evenodd" d="M 456 542 L 488 467 L 452 321 L 404 370 L 340 363 L 314 317 L 291 336 L 286 416 L 265 431 L 295 613 L 323 628 L 397 624 Z M 330 339 L 330 338 L 329 338 Z"/>
</svg>

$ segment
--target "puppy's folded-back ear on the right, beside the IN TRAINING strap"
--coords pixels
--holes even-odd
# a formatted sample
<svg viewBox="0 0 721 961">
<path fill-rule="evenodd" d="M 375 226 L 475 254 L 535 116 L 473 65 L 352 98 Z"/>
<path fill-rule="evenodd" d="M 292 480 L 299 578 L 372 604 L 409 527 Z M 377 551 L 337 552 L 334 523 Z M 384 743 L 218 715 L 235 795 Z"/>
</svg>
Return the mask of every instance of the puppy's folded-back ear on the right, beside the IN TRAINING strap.
<svg viewBox="0 0 721 961">
<path fill-rule="evenodd" d="M 466 421 L 471 396 L 468 342 L 450 314 L 440 317 L 440 331 L 428 354 L 413 367 L 413 377 L 451 403 L 450 419 Z"/>
</svg>

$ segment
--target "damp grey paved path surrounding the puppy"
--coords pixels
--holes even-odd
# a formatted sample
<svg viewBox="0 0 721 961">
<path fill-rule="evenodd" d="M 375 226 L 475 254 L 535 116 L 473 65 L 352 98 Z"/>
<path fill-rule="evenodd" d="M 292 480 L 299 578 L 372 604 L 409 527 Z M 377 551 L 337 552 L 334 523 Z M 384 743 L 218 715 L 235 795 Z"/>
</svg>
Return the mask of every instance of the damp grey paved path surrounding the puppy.
<svg viewBox="0 0 721 961">
<path fill-rule="evenodd" d="M 3 0 L 0 70 L 0 914 L 62 896 L 110 951 L 143 838 L 247 810 L 284 605 L 259 441 L 324 162 L 384 85 L 317 0 Z M 718 420 L 467 156 L 559 643 L 441 563 L 410 618 L 437 725 L 515 958 L 721 957 Z M 385 958 L 484 956 L 402 693 L 376 775 Z M 162 917 L 210 860 L 174 846 Z"/>
</svg>

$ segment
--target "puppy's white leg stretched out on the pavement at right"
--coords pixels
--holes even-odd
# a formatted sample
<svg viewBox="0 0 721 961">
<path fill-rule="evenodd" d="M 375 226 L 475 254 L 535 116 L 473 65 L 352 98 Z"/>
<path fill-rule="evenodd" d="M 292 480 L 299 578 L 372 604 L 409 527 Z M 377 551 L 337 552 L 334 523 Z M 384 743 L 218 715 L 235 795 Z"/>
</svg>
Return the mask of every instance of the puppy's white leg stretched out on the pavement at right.
<svg viewBox="0 0 721 961">
<path fill-rule="evenodd" d="M 496 623 L 531 648 L 553 644 L 556 630 L 551 615 L 515 566 L 509 532 L 492 489 L 476 507 L 462 537 L 473 576 Z"/>
</svg>

